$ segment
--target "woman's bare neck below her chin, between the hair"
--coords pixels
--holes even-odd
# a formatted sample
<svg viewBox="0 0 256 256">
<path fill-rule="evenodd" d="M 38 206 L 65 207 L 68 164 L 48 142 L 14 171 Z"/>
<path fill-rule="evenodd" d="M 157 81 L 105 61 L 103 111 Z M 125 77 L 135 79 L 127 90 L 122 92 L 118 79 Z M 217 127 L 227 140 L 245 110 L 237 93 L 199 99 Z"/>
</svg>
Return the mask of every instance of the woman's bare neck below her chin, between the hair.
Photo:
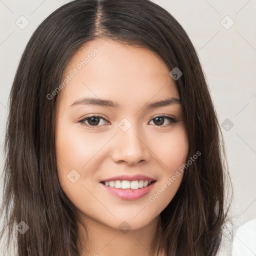
<svg viewBox="0 0 256 256">
<path fill-rule="evenodd" d="M 82 218 L 84 227 L 78 224 L 81 246 L 79 255 L 93 256 L 156 256 L 157 237 L 160 232 L 160 216 L 156 216 L 146 226 L 136 230 L 119 230 L 99 223 L 88 216 Z M 87 250 L 86 250 L 86 249 Z"/>
</svg>

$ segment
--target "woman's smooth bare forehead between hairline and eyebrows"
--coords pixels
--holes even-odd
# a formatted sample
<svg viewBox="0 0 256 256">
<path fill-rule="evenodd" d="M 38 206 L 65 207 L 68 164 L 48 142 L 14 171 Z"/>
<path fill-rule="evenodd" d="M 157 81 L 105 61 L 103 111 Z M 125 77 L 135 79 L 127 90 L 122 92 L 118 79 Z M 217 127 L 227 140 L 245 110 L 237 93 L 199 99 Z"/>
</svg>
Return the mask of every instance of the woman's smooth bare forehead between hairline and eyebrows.
<svg viewBox="0 0 256 256">
<path fill-rule="evenodd" d="M 149 49 L 96 39 L 74 53 L 62 76 L 61 94 L 70 105 L 82 96 L 139 102 L 178 97 L 163 60 Z M 72 75 L 73 73 L 73 75 Z M 72 76 L 72 78 L 70 78 Z"/>
</svg>

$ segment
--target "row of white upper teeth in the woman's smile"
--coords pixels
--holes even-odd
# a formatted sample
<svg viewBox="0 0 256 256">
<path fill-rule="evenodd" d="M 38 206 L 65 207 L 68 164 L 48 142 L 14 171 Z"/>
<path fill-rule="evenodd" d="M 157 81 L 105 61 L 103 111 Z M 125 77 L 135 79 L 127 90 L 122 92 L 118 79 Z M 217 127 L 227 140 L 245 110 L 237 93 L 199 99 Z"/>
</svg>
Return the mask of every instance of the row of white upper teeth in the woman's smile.
<svg viewBox="0 0 256 256">
<path fill-rule="evenodd" d="M 145 186 L 148 186 L 152 183 L 152 181 L 148 180 L 111 180 L 105 181 L 106 186 L 122 188 L 122 189 L 138 189 Z"/>
</svg>

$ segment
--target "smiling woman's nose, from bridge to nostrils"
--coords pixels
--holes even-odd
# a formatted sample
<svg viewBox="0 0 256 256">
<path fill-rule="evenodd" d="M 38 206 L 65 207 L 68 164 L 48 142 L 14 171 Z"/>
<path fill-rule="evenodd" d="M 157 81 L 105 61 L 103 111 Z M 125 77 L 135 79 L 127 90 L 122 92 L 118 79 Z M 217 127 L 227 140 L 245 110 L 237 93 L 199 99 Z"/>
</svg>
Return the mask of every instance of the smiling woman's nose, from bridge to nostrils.
<svg viewBox="0 0 256 256">
<path fill-rule="evenodd" d="M 150 150 L 147 138 L 141 129 L 139 131 L 135 128 L 135 125 L 131 125 L 126 131 L 118 128 L 112 143 L 111 157 L 116 163 L 124 161 L 134 165 L 149 160 Z"/>
</svg>

